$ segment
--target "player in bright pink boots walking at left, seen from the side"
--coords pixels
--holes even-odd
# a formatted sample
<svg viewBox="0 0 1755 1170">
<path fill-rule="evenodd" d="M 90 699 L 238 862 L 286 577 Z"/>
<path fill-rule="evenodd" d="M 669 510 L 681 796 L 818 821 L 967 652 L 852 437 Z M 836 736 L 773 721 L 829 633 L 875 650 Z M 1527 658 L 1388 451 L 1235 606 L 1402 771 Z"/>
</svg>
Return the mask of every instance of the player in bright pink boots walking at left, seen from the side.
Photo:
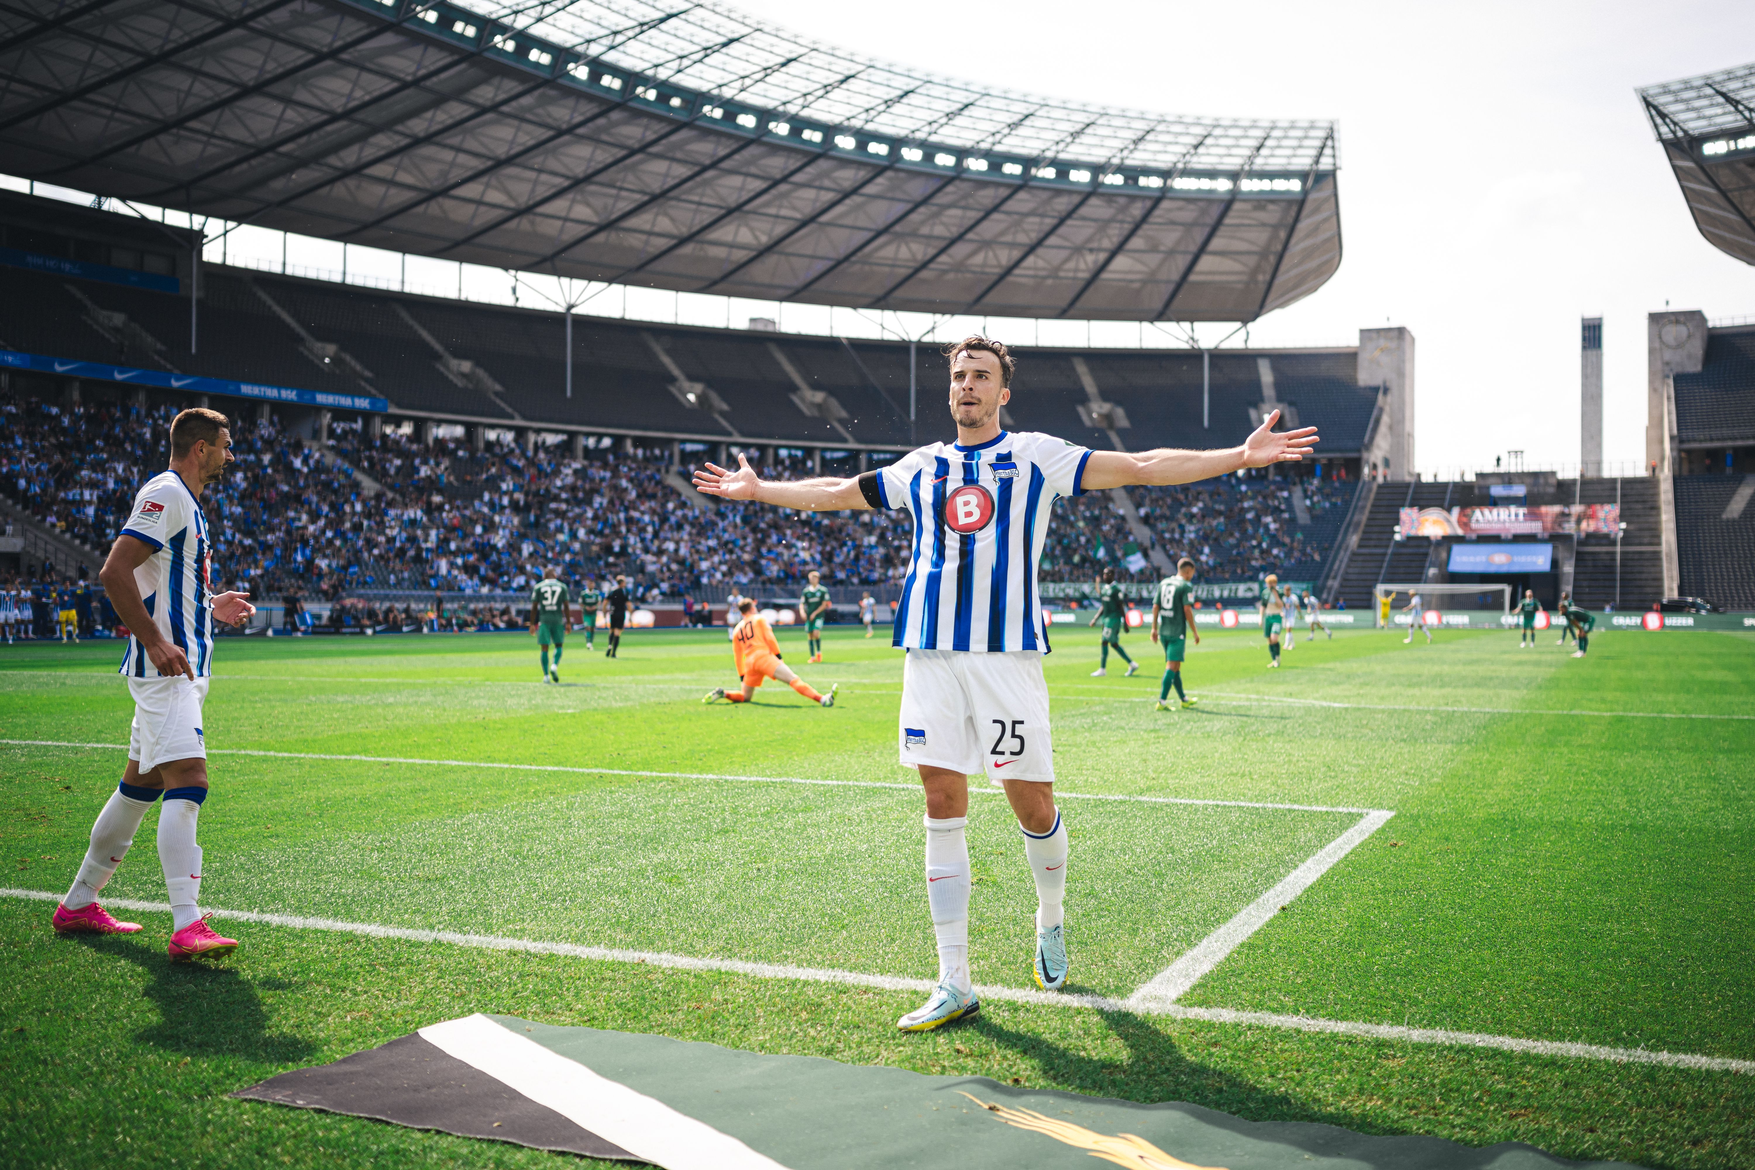
<svg viewBox="0 0 1755 1170">
<path fill-rule="evenodd" d="M 216 935 L 198 909 L 202 847 L 195 844 L 195 823 L 207 800 L 202 702 L 212 675 L 212 623 L 237 624 L 256 612 L 244 593 L 211 593 L 212 544 L 200 496 L 232 461 L 230 426 L 223 414 L 205 409 L 172 419 L 170 468 L 135 493 L 128 523 L 98 574 L 116 616 L 128 626 L 128 651 L 118 672 L 133 696 L 128 767 L 98 812 L 91 847 L 53 917 L 61 933 L 140 930 L 139 923 L 118 923 L 97 898 L 128 856 L 146 810 L 163 795 L 158 861 L 170 891 L 172 960 L 237 947 L 235 938 Z"/>
</svg>

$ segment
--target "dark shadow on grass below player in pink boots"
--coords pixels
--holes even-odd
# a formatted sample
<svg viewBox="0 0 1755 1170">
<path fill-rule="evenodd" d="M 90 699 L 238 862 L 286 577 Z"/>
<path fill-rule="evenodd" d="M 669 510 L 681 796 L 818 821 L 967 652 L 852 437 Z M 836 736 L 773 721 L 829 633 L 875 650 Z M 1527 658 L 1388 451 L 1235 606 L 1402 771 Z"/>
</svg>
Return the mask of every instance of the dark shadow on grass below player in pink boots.
<svg viewBox="0 0 1755 1170">
<path fill-rule="evenodd" d="M 190 1056 L 239 1056 L 265 1065 L 309 1059 L 318 1047 L 309 1040 L 272 1031 L 272 1019 L 256 995 L 256 984 L 218 963 L 172 963 L 161 949 L 139 938 L 98 935 L 81 938 L 98 954 L 126 960 L 151 982 L 142 995 L 158 1005 L 158 1024 L 135 1040 Z M 284 989 L 281 979 L 260 981 Z"/>
</svg>

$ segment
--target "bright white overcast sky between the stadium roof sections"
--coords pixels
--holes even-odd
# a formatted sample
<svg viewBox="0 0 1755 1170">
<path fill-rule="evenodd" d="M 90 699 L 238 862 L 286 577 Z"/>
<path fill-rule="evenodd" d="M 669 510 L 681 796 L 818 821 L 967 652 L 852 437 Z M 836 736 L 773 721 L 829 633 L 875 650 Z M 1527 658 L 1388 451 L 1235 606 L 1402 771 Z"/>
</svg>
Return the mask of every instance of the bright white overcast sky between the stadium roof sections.
<svg viewBox="0 0 1755 1170">
<path fill-rule="evenodd" d="M 1604 458 L 1644 454 L 1644 314 L 1755 316 L 1636 86 L 1755 60 L 1755 4 L 737 0 L 965 81 L 1169 114 L 1334 118 L 1341 270 L 1257 346 L 1416 339 L 1418 465 L 1578 461 L 1578 321 L 1604 319 Z M 1211 337 L 1216 340 L 1216 335 Z"/>
</svg>

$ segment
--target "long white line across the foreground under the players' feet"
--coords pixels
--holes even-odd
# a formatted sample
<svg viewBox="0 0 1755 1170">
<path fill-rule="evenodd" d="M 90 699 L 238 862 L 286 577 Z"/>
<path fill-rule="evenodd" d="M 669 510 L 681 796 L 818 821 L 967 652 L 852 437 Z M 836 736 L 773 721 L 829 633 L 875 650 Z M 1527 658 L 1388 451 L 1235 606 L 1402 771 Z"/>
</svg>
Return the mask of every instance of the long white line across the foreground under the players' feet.
<svg viewBox="0 0 1755 1170">
<path fill-rule="evenodd" d="M 61 895 L 47 889 L 0 889 L 0 898 L 60 902 Z M 105 898 L 104 905 L 116 910 L 142 910 L 147 914 L 170 912 L 170 905 L 165 902 L 137 902 L 133 898 Z M 797 979 L 802 982 L 878 988 L 881 991 L 932 991 L 930 979 L 867 975 L 863 972 L 844 972 L 821 967 L 786 967 L 779 963 L 746 963 L 741 960 L 700 960 L 686 954 L 667 954 L 662 951 L 583 947 L 569 942 L 535 942 L 528 938 L 507 938 L 502 935 L 463 935 L 444 930 L 409 930 L 404 926 L 379 926 L 374 923 L 342 923 L 328 917 L 258 914 L 254 910 L 211 910 L 211 914 L 216 919 L 235 923 L 260 923 L 263 926 L 284 926 L 290 930 L 325 930 L 333 933 L 362 935 L 367 938 L 404 938 L 409 942 L 441 942 L 483 951 L 562 954 L 567 958 L 598 960 L 607 963 L 646 963 L 648 967 L 667 970 L 725 972 L 732 975 L 749 975 L 753 979 Z M 1499 1049 L 1504 1052 L 1525 1052 L 1530 1056 L 1565 1056 L 1572 1059 L 1602 1059 L 1623 1065 L 1667 1065 L 1671 1068 L 1739 1072 L 1744 1075 L 1755 1075 L 1755 1059 L 1732 1059 L 1725 1056 L 1655 1052 L 1650 1049 L 1616 1049 L 1599 1044 L 1571 1044 L 1565 1040 L 1525 1040 L 1522 1037 L 1495 1037 L 1479 1031 L 1444 1031 L 1439 1028 L 1408 1028 L 1400 1024 L 1365 1024 L 1341 1019 L 1318 1019 L 1311 1016 L 1279 1016 L 1272 1012 L 1234 1012 L 1223 1007 L 1183 1007 L 1179 1003 L 1135 1005 L 1132 1002 L 1121 1003 L 1100 995 L 1058 995 L 1053 991 L 1030 991 L 1027 988 L 978 986 L 976 989 L 981 998 L 1007 1003 L 1083 1007 L 1100 1012 L 1169 1016 L 1172 1019 L 1192 1019 L 1218 1024 L 1250 1024 L 1257 1028 L 1286 1028 L 1292 1031 L 1327 1031 L 1350 1037 L 1367 1037 L 1372 1040 L 1395 1040 L 1402 1044 L 1451 1044 L 1462 1047 Z"/>
</svg>

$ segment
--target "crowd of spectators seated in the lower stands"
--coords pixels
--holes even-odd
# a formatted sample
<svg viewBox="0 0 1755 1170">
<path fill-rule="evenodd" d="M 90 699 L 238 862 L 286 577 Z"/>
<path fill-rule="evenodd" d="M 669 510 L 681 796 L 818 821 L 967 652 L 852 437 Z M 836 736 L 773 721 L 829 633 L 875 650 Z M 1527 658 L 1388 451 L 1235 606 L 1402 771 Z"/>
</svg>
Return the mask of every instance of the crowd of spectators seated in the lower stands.
<svg viewBox="0 0 1755 1170">
<path fill-rule="evenodd" d="M 63 407 L 0 393 L 0 489 L 98 556 L 123 526 L 140 482 L 163 470 L 170 407 Z M 567 444 L 525 451 L 416 433 L 367 435 L 337 426 L 318 446 L 283 433 L 277 417 L 235 412 L 235 467 L 204 502 L 214 533 L 214 588 L 256 598 L 335 600 L 372 591 L 518 593 L 558 567 L 570 581 L 625 574 L 639 598 L 716 586 L 784 591 L 816 568 L 825 584 L 895 582 L 907 565 L 906 512 L 790 512 L 753 503 L 700 507 L 674 482 L 669 444 L 609 444 L 572 458 Z M 809 474 L 804 453 L 765 447 L 763 475 Z M 667 482 L 667 472 L 670 482 Z M 1344 507 L 1353 484 L 1302 481 L 1311 514 Z M 1207 581 L 1265 572 L 1314 575 L 1323 547 L 1293 519 L 1290 481 L 1265 472 L 1181 488 L 1135 488 L 1141 519 L 1174 560 L 1192 556 Z M 1090 581 L 1139 553 L 1109 493 L 1057 505 L 1044 581 Z M 91 567 L 95 572 L 97 565 Z M 363 602 L 362 602 L 363 605 Z M 395 610 L 374 621 L 335 607 L 332 621 L 416 624 Z M 437 621 L 446 621 L 444 616 Z M 458 621 L 500 621 L 470 614 Z"/>
</svg>

